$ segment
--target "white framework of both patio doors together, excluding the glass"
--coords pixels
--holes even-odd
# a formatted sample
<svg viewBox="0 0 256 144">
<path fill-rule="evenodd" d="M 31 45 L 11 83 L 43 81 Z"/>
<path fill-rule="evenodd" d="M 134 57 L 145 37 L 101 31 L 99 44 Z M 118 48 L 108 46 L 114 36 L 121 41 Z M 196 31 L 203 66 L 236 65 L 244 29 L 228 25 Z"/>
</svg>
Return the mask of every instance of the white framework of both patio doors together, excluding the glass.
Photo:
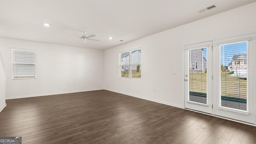
<svg viewBox="0 0 256 144">
<path fill-rule="evenodd" d="M 242 110 L 234 110 L 232 108 L 226 108 L 222 107 L 220 105 L 220 73 L 218 72 L 218 69 L 220 69 L 220 47 L 219 44 L 226 44 L 226 43 L 232 43 L 232 42 L 241 42 L 248 40 L 249 42 L 249 52 L 248 52 L 248 76 L 250 81 L 248 82 L 249 87 L 248 87 L 248 112 L 242 111 Z M 197 43 L 197 44 L 190 44 L 190 45 L 185 45 L 184 46 L 184 108 L 186 109 L 191 109 L 203 113 L 208 113 L 210 115 L 215 115 L 215 116 L 220 116 L 222 118 L 227 118 L 229 120 L 234 120 L 234 121 L 240 121 L 242 123 L 247 123 L 247 124 L 256 124 L 256 33 L 250 33 L 250 34 L 244 34 L 241 36 L 233 36 L 230 38 L 222 38 L 222 39 L 217 39 L 217 40 L 212 40 L 208 41 L 212 42 L 213 48 L 208 48 L 208 55 L 207 55 L 207 61 L 208 66 L 207 66 L 207 73 L 209 72 L 210 74 L 207 76 L 208 80 L 212 80 L 212 82 L 208 82 L 208 89 L 211 89 L 208 94 L 211 94 L 208 96 L 208 106 L 204 106 L 204 104 L 193 104 L 193 102 L 187 102 L 188 101 L 188 82 L 185 81 L 186 79 L 189 80 L 189 77 L 186 77 L 186 74 L 188 74 L 188 67 L 186 65 L 188 64 L 188 52 L 186 50 L 189 49 L 195 49 L 195 48 L 200 48 L 201 46 L 207 46 L 204 45 L 204 42 L 202 43 Z M 208 45 L 209 46 L 209 45 Z M 209 46 L 210 47 L 210 46 Z M 210 62 L 211 61 L 211 62 Z M 209 98 L 211 97 L 211 98 Z M 209 100 L 211 99 L 211 101 Z M 211 103 L 210 103 L 211 102 Z M 189 106 L 188 106 L 189 105 Z M 212 107 L 211 110 L 205 110 L 205 108 Z"/>
</svg>

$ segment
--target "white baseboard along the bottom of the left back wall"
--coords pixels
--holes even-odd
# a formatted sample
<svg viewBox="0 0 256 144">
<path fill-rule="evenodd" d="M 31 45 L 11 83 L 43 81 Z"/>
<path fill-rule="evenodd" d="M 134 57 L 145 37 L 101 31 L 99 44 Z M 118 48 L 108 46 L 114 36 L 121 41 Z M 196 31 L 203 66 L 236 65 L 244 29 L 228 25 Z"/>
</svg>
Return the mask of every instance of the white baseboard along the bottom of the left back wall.
<svg viewBox="0 0 256 144">
<path fill-rule="evenodd" d="M 16 96 L 16 97 L 6 98 L 6 100 L 17 99 L 17 98 L 30 98 L 30 97 L 36 97 L 36 96 L 50 96 L 50 95 L 56 95 L 56 94 L 69 94 L 69 93 L 75 93 L 75 92 L 88 92 L 88 91 L 93 91 L 93 90 L 104 90 L 104 89 L 103 88 L 96 88 L 96 89 L 90 89 L 90 90 L 77 90 L 77 91 L 56 92 L 56 93 L 49 93 L 49 94 L 36 94 L 36 95 L 28 95 L 28 96 Z"/>
</svg>

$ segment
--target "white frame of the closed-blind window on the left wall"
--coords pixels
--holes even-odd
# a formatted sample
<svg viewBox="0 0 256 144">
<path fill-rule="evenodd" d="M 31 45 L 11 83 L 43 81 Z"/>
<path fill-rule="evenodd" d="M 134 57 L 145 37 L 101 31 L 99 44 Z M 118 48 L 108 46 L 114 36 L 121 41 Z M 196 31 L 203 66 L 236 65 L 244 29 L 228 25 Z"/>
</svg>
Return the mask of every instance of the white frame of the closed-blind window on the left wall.
<svg viewBox="0 0 256 144">
<path fill-rule="evenodd" d="M 14 53 L 13 50 L 23 50 L 23 51 L 34 51 L 35 52 L 35 63 L 34 64 L 27 64 L 27 65 L 34 65 L 35 70 L 34 70 L 34 77 L 24 77 L 24 76 L 20 76 L 20 77 L 15 77 L 14 76 L 14 66 L 18 65 L 18 64 L 14 64 Z M 35 49 L 27 49 L 27 48 L 14 48 L 11 47 L 11 52 L 12 52 L 12 80 L 27 80 L 27 79 L 36 79 L 37 75 L 36 75 L 36 57 L 37 57 L 37 51 Z"/>
</svg>

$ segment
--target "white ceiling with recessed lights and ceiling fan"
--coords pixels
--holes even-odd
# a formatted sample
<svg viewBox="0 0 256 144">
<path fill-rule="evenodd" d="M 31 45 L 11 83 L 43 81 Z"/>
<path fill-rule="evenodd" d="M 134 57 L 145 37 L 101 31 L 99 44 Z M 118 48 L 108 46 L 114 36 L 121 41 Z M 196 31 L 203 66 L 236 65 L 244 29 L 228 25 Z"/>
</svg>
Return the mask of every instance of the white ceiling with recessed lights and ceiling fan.
<svg viewBox="0 0 256 144">
<path fill-rule="evenodd" d="M 0 1 L 0 37 L 105 50 L 255 1 L 5 0 Z M 198 13 L 213 4 L 216 8 Z M 82 34 L 79 30 L 101 41 L 66 39 L 76 38 L 70 32 Z"/>
</svg>

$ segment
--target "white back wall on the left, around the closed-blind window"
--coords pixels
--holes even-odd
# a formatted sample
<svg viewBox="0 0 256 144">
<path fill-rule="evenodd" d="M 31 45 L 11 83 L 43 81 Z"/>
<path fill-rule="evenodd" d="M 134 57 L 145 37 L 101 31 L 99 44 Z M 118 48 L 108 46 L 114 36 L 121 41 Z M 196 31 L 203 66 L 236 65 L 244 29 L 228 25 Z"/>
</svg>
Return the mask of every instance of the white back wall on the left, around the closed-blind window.
<svg viewBox="0 0 256 144">
<path fill-rule="evenodd" d="M 11 47 L 36 50 L 36 79 L 12 80 Z M 6 65 L 6 99 L 104 88 L 104 52 L 0 38 Z"/>
</svg>

